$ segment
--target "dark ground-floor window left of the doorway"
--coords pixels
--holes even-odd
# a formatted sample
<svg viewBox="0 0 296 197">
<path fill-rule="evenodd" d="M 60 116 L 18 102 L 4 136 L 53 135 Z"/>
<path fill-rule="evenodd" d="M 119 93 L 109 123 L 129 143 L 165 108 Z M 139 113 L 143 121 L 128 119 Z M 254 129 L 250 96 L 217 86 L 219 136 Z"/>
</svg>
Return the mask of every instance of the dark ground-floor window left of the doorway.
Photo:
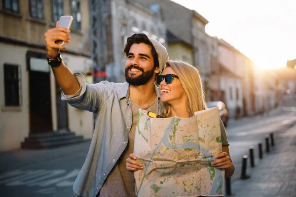
<svg viewBox="0 0 296 197">
<path fill-rule="evenodd" d="M 20 106 L 19 66 L 4 64 L 5 106 Z"/>
</svg>

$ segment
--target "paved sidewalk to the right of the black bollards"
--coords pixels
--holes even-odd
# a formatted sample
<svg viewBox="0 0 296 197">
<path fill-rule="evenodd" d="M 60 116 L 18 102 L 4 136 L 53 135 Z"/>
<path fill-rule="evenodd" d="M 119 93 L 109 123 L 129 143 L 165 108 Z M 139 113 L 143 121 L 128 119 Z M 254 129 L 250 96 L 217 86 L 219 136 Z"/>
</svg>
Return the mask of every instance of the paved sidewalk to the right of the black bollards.
<svg viewBox="0 0 296 197">
<path fill-rule="evenodd" d="M 263 152 L 255 167 L 248 161 L 249 179 L 231 180 L 231 196 L 296 197 L 296 125 L 277 133 L 274 139 L 275 146 L 269 153 Z"/>
</svg>

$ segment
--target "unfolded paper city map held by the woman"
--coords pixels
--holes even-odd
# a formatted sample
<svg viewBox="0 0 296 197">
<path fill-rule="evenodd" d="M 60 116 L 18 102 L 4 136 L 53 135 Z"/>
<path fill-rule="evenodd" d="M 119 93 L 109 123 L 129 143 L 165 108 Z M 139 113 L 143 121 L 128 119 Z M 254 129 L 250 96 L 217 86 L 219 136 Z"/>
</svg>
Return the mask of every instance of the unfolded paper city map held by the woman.
<svg viewBox="0 0 296 197">
<path fill-rule="evenodd" d="M 140 109 L 134 154 L 144 169 L 134 173 L 137 196 L 223 196 L 224 170 L 211 166 L 221 152 L 218 107 L 190 118 L 151 118 Z"/>
</svg>

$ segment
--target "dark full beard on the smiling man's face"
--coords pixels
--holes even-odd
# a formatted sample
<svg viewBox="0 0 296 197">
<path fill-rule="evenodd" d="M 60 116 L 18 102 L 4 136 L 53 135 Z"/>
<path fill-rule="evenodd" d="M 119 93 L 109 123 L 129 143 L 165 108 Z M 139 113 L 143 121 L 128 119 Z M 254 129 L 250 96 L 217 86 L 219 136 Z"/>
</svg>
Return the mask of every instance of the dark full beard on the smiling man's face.
<svg viewBox="0 0 296 197">
<path fill-rule="evenodd" d="M 142 74 L 137 77 L 129 76 L 128 71 L 131 68 L 141 70 Z M 131 85 L 141 86 L 141 85 L 145 85 L 153 77 L 153 73 L 154 73 L 154 68 L 152 68 L 151 70 L 147 70 L 145 72 L 144 69 L 141 67 L 130 65 L 127 68 L 125 68 L 125 80 L 127 83 Z"/>
</svg>

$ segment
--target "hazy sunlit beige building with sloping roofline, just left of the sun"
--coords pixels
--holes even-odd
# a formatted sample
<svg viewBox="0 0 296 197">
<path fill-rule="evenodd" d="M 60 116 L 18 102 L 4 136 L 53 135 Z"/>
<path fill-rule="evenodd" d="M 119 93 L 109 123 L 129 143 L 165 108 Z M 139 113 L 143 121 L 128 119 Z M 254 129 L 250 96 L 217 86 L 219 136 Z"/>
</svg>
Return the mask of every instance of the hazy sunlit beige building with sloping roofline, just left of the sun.
<svg viewBox="0 0 296 197">
<path fill-rule="evenodd" d="M 229 117 L 252 115 L 255 110 L 253 62 L 223 39 L 217 39 L 219 66 L 221 73 L 220 88 L 222 101 L 229 111 Z"/>
</svg>

